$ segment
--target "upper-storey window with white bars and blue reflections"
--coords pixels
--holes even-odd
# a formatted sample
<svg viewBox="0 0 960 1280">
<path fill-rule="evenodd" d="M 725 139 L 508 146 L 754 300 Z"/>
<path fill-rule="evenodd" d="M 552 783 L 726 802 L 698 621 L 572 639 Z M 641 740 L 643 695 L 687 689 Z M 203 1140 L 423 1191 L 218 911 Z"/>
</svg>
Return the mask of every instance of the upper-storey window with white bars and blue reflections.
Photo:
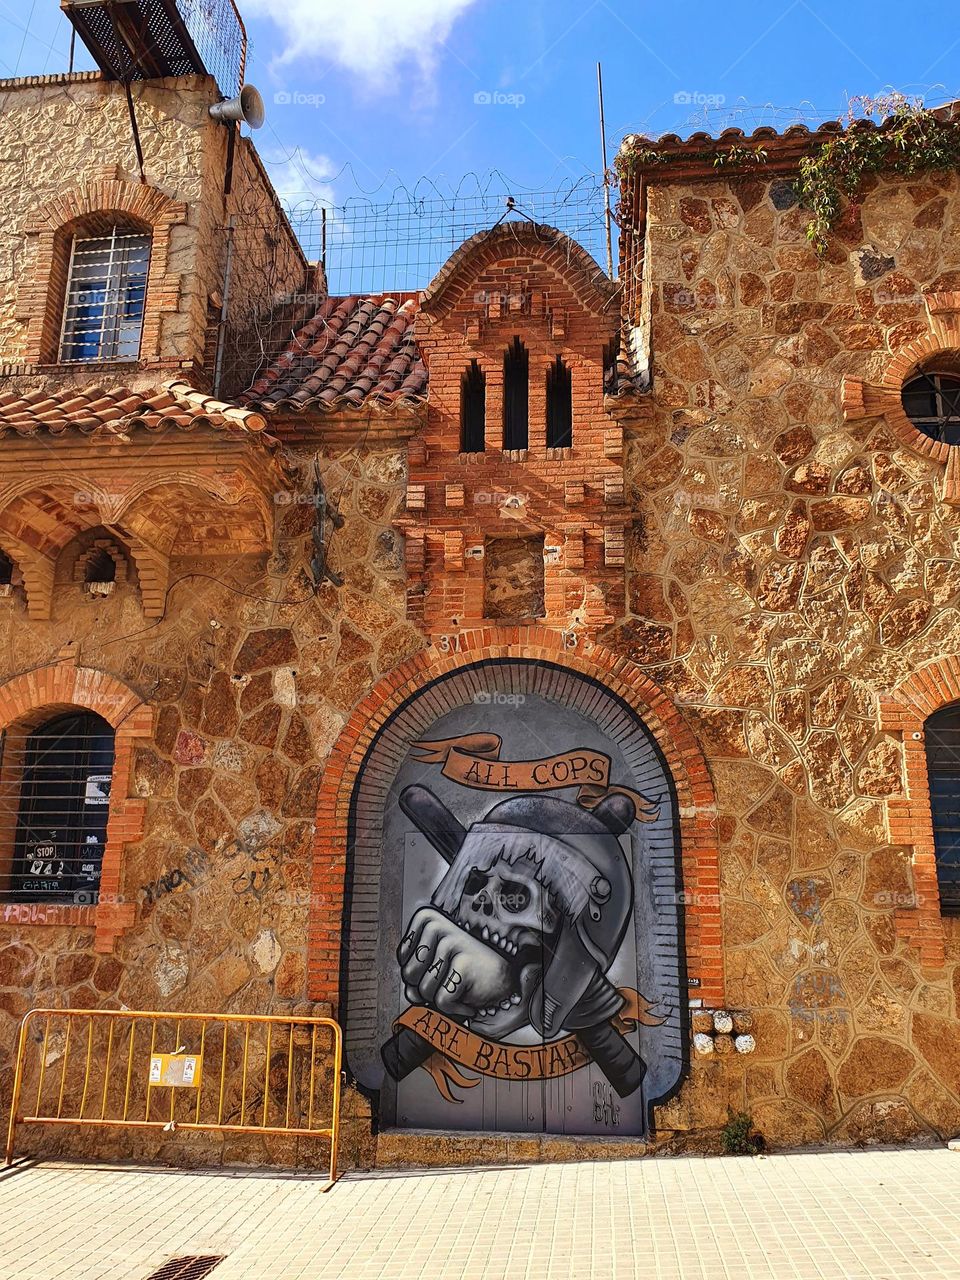
<svg viewBox="0 0 960 1280">
<path fill-rule="evenodd" d="M 150 268 L 150 236 L 114 227 L 74 237 L 67 275 L 60 360 L 137 360 Z"/>
</svg>

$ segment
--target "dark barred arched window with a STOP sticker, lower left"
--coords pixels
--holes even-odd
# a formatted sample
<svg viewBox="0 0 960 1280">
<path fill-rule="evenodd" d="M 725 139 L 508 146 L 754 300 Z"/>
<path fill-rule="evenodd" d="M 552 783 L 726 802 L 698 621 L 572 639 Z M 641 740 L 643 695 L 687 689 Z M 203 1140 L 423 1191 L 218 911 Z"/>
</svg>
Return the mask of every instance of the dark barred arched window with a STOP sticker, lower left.
<svg viewBox="0 0 960 1280">
<path fill-rule="evenodd" d="M 10 896 L 96 901 L 113 767 L 114 731 L 93 712 L 55 716 L 29 733 L 4 733 L 1 791 L 5 804 L 15 804 Z"/>
</svg>

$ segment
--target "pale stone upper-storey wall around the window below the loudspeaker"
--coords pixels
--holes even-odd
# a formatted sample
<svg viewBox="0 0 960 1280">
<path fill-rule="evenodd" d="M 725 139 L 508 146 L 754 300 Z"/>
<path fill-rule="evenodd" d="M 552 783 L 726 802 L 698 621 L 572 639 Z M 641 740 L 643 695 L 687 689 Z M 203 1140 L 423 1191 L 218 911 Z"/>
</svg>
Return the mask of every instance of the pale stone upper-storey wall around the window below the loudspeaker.
<svg viewBox="0 0 960 1280">
<path fill-rule="evenodd" d="M 230 219 L 243 241 L 232 291 L 238 320 L 251 328 L 278 296 L 305 288 L 302 251 L 247 138 L 237 141 L 233 187 L 224 193 L 229 134 L 207 115 L 219 96 L 212 82 L 151 81 L 134 84 L 133 96 L 146 187 L 120 86 L 92 72 L 0 82 L 0 366 L 19 375 L 15 388 L 59 387 L 67 372 L 47 366 L 56 358 L 69 244 L 44 234 L 47 220 L 52 232 L 81 212 L 113 209 L 155 227 L 140 367 L 109 366 L 114 384 L 145 387 L 157 372 L 186 371 L 211 385 Z M 105 370 L 70 366 L 69 376 L 102 381 Z"/>
</svg>

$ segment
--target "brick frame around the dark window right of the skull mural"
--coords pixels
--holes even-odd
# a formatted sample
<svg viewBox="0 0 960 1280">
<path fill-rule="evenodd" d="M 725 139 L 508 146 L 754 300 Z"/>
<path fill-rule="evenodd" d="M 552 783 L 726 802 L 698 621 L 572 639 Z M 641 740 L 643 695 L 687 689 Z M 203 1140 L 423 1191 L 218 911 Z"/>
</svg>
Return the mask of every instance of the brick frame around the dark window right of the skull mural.
<svg viewBox="0 0 960 1280">
<path fill-rule="evenodd" d="M 881 698 L 879 727 L 904 740 L 904 791 L 887 800 L 891 844 L 911 851 L 913 905 L 893 911 L 897 934 L 915 946 L 924 968 L 942 969 L 946 940 L 960 937 L 960 919 L 941 911 L 933 810 L 924 724 L 933 712 L 960 701 L 960 657 L 937 658 Z"/>
</svg>

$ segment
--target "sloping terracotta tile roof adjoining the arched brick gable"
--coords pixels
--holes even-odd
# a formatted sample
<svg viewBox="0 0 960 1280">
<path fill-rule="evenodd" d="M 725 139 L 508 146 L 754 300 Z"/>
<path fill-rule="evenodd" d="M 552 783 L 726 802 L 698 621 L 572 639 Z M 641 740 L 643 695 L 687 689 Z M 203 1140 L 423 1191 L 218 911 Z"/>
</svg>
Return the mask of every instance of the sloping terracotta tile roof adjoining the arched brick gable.
<svg viewBox="0 0 960 1280">
<path fill-rule="evenodd" d="M 412 411 L 426 398 L 412 294 L 325 298 L 241 401 L 266 413 Z"/>
</svg>

